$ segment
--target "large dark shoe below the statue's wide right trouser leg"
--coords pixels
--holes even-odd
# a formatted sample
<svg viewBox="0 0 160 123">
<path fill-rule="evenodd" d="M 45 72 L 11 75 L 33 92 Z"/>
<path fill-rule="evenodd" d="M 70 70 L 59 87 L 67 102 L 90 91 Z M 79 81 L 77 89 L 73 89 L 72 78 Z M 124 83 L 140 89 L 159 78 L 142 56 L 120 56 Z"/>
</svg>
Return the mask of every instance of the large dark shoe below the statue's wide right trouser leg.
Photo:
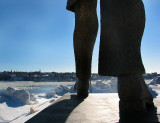
<svg viewBox="0 0 160 123">
<path fill-rule="evenodd" d="M 146 112 L 154 107 L 153 96 L 142 75 L 118 77 L 119 110 L 124 113 Z"/>
</svg>

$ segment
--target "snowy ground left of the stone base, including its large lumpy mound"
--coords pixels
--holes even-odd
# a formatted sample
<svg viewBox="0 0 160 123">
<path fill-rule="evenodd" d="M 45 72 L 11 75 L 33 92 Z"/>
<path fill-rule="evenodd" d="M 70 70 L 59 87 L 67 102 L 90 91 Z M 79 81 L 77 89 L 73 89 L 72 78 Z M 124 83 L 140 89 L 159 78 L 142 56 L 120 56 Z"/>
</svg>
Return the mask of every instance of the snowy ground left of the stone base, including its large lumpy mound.
<svg viewBox="0 0 160 123">
<path fill-rule="evenodd" d="M 8 87 L 0 95 L 0 123 L 24 123 L 59 97 L 54 91 L 34 95 Z M 32 114 L 31 109 L 36 112 Z"/>
</svg>

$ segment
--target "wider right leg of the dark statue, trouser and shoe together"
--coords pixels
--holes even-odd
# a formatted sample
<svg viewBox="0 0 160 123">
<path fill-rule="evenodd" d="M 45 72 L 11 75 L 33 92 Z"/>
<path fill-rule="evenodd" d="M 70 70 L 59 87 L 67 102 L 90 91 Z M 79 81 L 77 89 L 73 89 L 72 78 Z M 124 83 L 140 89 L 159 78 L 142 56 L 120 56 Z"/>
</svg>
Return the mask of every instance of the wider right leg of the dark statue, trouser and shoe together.
<svg viewBox="0 0 160 123">
<path fill-rule="evenodd" d="M 142 0 L 101 0 L 101 26 L 99 74 L 118 76 L 120 112 L 145 112 L 154 104 L 142 77 Z"/>
</svg>

